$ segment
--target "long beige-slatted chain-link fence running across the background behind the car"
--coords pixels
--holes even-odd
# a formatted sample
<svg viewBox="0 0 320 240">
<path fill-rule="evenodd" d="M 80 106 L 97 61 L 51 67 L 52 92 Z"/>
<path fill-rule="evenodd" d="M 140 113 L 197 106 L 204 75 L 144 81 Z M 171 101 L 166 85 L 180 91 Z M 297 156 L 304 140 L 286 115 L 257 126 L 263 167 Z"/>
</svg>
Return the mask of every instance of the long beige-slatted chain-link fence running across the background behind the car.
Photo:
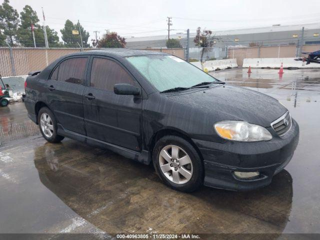
<svg viewBox="0 0 320 240">
<path fill-rule="evenodd" d="M 55 59 L 74 52 L 107 48 L 34 48 L 34 47 L 0 47 L 0 74 L 2 76 L 26 75 L 30 71 L 42 70 Z M 114 49 L 114 48 L 111 48 Z M 150 51 L 162 51 L 185 58 L 186 48 L 129 48 Z M 320 49 L 320 44 L 303 45 L 302 52 Z M 193 60 L 236 58 L 242 66 L 244 58 L 295 57 L 296 45 L 257 46 L 228 48 L 223 47 L 189 47 L 188 57 Z"/>
</svg>

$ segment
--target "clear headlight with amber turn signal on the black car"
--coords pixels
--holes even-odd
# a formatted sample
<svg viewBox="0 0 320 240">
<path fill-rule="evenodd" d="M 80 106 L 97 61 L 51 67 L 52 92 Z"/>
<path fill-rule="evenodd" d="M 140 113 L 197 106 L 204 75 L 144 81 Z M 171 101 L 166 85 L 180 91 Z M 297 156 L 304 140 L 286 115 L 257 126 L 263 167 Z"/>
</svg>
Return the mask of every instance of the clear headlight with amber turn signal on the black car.
<svg viewBox="0 0 320 240">
<path fill-rule="evenodd" d="M 214 124 L 216 133 L 222 138 L 233 141 L 268 141 L 271 133 L 263 126 L 245 121 L 226 120 Z"/>
</svg>

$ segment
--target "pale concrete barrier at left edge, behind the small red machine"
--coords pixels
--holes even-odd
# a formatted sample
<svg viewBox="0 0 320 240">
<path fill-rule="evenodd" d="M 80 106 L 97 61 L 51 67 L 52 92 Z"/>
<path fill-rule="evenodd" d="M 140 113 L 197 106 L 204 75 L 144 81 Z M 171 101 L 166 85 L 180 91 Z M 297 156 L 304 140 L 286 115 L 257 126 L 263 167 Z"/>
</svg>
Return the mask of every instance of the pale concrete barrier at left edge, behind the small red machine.
<svg viewBox="0 0 320 240">
<path fill-rule="evenodd" d="M 26 77 L 27 75 L 2 77 L 3 83 L 9 84 L 11 88 L 9 90 L 11 98 L 6 99 L 10 102 L 21 100 L 22 94 L 24 94 L 24 81 Z"/>
</svg>

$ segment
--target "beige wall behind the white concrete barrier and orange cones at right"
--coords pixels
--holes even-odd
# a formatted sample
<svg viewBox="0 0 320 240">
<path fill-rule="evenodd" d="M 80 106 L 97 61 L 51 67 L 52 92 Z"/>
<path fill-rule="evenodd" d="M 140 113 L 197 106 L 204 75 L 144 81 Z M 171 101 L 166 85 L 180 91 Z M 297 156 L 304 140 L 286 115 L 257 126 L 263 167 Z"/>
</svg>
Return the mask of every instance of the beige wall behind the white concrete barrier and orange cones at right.
<svg viewBox="0 0 320 240">
<path fill-rule="evenodd" d="M 320 44 L 303 45 L 302 52 L 312 52 L 320 49 Z M 228 49 L 228 57 L 236 58 L 237 64 L 242 66 L 244 58 L 255 57 L 295 57 L 296 45 L 261 46 Z"/>
</svg>

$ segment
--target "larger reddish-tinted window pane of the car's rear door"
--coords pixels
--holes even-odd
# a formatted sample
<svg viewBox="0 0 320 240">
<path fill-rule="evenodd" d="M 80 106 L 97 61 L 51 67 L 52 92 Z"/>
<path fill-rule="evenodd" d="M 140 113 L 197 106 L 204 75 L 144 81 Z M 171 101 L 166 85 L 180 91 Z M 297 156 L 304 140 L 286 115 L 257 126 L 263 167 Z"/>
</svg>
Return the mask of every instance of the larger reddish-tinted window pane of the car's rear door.
<svg viewBox="0 0 320 240">
<path fill-rule="evenodd" d="M 59 64 L 58 81 L 83 84 L 87 57 L 73 57 Z"/>
</svg>

